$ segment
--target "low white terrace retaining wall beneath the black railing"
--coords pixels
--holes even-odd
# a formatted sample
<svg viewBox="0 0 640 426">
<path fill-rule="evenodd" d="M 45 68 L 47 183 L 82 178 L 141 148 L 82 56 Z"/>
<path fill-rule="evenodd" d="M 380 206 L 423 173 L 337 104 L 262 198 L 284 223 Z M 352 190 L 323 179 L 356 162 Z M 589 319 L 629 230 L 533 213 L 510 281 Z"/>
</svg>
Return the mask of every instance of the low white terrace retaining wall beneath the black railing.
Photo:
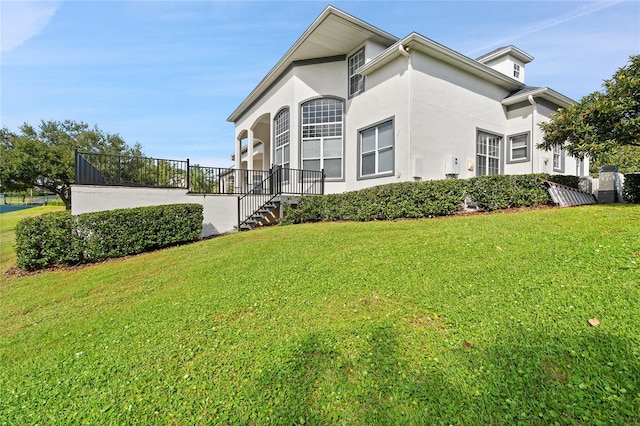
<svg viewBox="0 0 640 426">
<path fill-rule="evenodd" d="M 185 189 L 73 185 L 71 199 L 74 215 L 163 204 L 201 204 L 204 207 L 203 237 L 232 232 L 238 225 L 235 195 L 188 194 Z"/>
</svg>

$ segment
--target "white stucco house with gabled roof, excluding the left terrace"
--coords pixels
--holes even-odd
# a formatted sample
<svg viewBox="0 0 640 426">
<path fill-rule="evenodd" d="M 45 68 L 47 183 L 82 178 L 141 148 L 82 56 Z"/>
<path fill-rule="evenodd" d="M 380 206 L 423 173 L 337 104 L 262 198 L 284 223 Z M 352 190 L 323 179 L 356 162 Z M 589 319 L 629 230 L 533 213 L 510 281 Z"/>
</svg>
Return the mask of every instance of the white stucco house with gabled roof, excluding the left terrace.
<svg viewBox="0 0 640 426">
<path fill-rule="evenodd" d="M 535 148 L 574 101 L 526 85 L 533 57 L 471 59 L 327 7 L 231 113 L 235 168 L 324 170 L 325 193 L 485 174 L 582 176 L 587 160 Z"/>
</svg>

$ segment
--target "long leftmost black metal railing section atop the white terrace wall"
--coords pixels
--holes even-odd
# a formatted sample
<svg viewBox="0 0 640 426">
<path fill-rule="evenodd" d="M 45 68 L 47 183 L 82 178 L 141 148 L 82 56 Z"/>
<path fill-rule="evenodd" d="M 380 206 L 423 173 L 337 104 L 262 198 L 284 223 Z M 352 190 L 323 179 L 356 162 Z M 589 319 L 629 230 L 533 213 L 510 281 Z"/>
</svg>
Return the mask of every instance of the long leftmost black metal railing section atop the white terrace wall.
<svg viewBox="0 0 640 426">
<path fill-rule="evenodd" d="M 189 160 L 76 151 L 75 183 L 187 189 Z"/>
</svg>

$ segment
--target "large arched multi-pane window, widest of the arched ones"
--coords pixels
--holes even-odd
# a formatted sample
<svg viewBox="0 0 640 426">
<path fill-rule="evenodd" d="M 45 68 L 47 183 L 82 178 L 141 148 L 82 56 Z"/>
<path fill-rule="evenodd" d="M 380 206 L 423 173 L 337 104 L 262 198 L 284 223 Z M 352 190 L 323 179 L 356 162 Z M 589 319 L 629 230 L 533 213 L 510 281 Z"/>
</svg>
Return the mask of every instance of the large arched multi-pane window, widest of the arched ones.
<svg viewBox="0 0 640 426">
<path fill-rule="evenodd" d="M 302 104 L 302 168 L 324 170 L 342 179 L 342 100 L 315 99 Z"/>
</svg>

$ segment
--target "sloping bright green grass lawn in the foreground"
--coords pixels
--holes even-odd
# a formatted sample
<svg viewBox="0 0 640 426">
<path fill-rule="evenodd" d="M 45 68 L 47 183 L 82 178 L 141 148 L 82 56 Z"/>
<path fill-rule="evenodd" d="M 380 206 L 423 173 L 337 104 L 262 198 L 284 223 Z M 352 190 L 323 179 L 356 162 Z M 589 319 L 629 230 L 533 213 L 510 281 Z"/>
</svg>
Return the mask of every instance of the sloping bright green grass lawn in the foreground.
<svg viewBox="0 0 640 426">
<path fill-rule="evenodd" d="M 639 263 L 596 205 L 3 276 L 0 423 L 640 424 Z"/>
</svg>

